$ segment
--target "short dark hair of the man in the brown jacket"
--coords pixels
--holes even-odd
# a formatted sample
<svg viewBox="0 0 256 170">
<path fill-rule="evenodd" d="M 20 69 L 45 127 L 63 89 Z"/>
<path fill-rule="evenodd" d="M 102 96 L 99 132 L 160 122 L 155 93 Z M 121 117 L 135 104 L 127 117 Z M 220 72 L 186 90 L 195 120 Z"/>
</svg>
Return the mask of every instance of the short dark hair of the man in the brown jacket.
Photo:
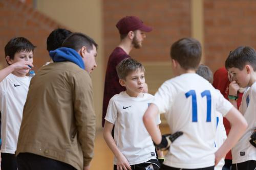
<svg viewBox="0 0 256 170">
<path fill-rule="evenodd" d="M 62 47 L 72 48 L 75 51 L 79 51 L 82 46 L 86 46 L 87 52 L 93 49 L 93 45 L 96 49 L 98 48 L 98 44 L 91 37 L 82 33 L 73 33 L 62 43 Z"/>
</svg>

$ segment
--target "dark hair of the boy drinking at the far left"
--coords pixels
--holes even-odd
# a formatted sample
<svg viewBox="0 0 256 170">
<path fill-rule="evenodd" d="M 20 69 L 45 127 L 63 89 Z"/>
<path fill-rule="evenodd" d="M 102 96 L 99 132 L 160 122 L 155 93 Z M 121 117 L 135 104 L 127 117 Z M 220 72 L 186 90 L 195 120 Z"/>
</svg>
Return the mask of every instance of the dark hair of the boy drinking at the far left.
<svg viewBox="0 0 256 170">
<path fill-rule="evenodd" d="M 9 56 L 10 59 L 14 59 L 14 55 L 19 52 L 33 52 L 35 49 L 35 45 L 33 45 L 28 39 L 24 37 L 17 37 L 12 38 L 6 45 L 5 45 L 5 57 Z M 7 60 L 6 60 L 7 62 Z M 9 64 L 7 62 L 7 64 Z M 10 64 L 9 64 L 10 65 Z"/>
</svg>

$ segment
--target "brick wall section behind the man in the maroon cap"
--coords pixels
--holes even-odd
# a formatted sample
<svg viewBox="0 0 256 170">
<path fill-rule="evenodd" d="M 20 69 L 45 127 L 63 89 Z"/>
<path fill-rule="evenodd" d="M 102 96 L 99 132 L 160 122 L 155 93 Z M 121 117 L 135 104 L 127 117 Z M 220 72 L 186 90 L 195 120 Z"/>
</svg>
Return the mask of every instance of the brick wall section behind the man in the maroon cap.
<svg viewBox="0 0 256 170">
<path fill-rule="evenodd" d="M 146 25 L 153 27 L 153 31 L 146 34 L 143 47 L 131 52 L 131 56 L 141 62 L 170 61 L 170 45 L 191 34 L 190 0 L 103 1 L 105 61 L 120 42 L 115 25 L 127 15 L 138 16 Z"/>
</svg>

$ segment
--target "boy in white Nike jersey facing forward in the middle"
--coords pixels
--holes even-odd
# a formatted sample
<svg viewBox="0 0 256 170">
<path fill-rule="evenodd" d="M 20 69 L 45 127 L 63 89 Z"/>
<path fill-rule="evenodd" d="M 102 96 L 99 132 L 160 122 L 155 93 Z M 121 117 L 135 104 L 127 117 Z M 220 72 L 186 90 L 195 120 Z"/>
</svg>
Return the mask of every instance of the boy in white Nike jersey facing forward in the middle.
<svg viewBox="0 0 256 170">
<path fill-rule="evenodd" d="M 144 67 L 132 58 L 117 66 L 119 83 L 126 91 L 114 95 L 105 116 L 103 136 L 115 155 L 114 169 L 158 169 L 155 147 L 142 116 L 154 96 L 143 93 Z M 154 118 L 160 124 L 160 116 Z M 114 139 L 111 135 L 115 125 Z M 157 127 L 159 130 L 159 127 Z"/>
</svg>

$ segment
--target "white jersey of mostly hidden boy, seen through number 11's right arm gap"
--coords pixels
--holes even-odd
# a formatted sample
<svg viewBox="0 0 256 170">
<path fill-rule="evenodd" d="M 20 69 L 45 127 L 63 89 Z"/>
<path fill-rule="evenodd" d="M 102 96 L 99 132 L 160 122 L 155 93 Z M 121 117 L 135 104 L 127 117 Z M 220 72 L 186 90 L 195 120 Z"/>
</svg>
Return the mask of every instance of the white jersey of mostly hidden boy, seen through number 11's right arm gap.
<svg viewBox="0 0 256 170">
<path fill-rule="evenodd" d="M 220 112 L 217 112 L 217 129 L 216 129 L 216 137 L 215 137 L 215 148 L 216 151 L 221 147 L 222 143 L 226 140 L 227 134 L 223 124 L 223 116 Z M 215 170 L 222 170 L 222 167 L 225 164 L 224 158 L 220 160 L 217 166 L 214 167 Z"/>
</svg>

